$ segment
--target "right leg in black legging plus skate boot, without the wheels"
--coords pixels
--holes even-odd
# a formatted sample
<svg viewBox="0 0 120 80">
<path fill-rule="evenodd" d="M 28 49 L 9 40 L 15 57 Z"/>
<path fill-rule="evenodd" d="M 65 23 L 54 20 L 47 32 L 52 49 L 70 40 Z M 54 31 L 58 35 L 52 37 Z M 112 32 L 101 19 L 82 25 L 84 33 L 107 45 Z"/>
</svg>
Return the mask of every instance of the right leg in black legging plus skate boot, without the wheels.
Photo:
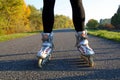
<svg viewBox="0 0 120 80">
<path fill-rule="evenodd" d="M 86 54 L 94 54 L 94 51 L 89 47 L 87 40 L 87 32 L 85 30 L 85 12 L 82 0 L 70 0 L 73 12 L 73 23 L 76 30 L 76 46 Z"/>
</svg>

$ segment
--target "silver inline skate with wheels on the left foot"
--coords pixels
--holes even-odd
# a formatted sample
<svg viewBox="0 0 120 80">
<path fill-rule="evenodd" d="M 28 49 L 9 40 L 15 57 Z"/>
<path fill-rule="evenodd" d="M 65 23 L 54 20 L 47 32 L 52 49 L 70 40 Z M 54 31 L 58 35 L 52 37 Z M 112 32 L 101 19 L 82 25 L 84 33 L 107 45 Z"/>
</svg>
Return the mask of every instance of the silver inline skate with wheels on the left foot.
<svg viewBox="0 0 120 80">
<path fill-rule="evenodd" d="M 51 59 L 53 52 L 53 33 L 42 33 L 42 46 L 40 51 L 37 53 L 38 66 L 42 68 Z"/>
</svg>

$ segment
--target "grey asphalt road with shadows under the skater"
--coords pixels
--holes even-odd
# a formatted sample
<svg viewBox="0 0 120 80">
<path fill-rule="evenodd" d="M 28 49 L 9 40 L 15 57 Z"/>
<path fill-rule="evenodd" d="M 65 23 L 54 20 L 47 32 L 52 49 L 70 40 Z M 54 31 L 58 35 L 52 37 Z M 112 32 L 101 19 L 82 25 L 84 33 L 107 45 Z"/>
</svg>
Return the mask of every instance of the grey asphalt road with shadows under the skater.
<svg viewBox="0 0 120 80">
<path fill-rule="evenodd" d="M 120 43 L 89 35 L 95 66 L 87 67 L 74 47 L 74 31 L 56 31 L 52 60 L 37 66 L 40 34 L 0 43 L 0 80 L 120 80 Z"/>
</svg>

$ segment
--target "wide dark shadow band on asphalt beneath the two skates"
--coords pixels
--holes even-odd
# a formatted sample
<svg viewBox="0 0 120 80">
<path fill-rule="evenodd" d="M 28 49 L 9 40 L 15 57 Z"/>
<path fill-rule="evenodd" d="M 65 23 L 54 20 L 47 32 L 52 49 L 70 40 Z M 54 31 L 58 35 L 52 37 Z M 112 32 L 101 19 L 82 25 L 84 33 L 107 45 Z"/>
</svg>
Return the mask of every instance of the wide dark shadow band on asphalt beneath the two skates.
<svg viewBox="0 0 120 80">
<path fill-rule="evenodd" d="M 80 59 L 53 59 L 42 69 L 37 65 L 37 59 L 1 60 L 0 71 L 79 71 L 88 67 Z"/>
</svg>

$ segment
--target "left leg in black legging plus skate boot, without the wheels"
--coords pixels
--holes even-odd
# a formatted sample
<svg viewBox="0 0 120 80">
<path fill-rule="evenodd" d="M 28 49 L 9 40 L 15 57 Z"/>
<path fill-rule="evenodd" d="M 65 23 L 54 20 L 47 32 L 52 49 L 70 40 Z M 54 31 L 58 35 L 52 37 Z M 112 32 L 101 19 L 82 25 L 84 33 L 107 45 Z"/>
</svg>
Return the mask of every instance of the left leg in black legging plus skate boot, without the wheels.
<svg viewBox="0 0 120 80">
<path fill-rule="evenodd" d="M 46 58 L 49 54 L 52 53 L 53 50 L 53 24 L 54 24 L 54 5 L 55 0 L 43 0 L 43 33 L 42 36 L 42 46 L 39 50 L 37 56 Z M 44 54 L 43 54 L 44 53 Z"/>
</svg>

